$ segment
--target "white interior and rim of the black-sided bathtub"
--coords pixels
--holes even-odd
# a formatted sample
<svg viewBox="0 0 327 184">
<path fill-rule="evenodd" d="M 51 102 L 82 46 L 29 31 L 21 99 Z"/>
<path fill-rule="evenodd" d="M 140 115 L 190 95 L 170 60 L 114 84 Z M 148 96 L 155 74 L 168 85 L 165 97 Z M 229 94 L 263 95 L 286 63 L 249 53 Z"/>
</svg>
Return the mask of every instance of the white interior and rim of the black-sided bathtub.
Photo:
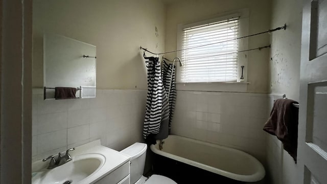
<svg viewBox="0 0 327 184">
<path fill-rule="evenodd" d="M 160 141 L 150 149 L 161 156 L 244 182 L 260 181 L 265 169 L 258 159 L 243 151 L 169 135 L 159 150 Z"/>
</svg>

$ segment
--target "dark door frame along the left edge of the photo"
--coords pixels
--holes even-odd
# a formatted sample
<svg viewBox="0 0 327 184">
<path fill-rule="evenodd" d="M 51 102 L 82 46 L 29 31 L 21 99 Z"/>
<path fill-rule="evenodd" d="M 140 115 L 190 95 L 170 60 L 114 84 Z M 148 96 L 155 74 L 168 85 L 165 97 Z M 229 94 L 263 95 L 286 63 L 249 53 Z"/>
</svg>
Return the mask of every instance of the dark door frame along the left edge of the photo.
<svg viewBox="0 0 327 184">
<path fill-rule="evenodd" d="M 0 0 L 0 183 L 31 183 L 32 0 Z"/>
</svg>

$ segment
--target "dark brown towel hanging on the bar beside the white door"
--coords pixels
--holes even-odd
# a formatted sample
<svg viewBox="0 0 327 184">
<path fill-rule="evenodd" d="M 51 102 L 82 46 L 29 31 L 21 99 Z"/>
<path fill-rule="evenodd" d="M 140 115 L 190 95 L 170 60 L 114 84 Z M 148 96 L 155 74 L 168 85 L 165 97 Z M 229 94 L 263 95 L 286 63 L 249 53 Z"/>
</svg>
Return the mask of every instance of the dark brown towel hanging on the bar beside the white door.
<svg viewBox="0 0 327 184">
<path fill-rule="evenodd" d="M 293 103 L 297 102 L 289 99 L 275 100 L 263 130 L 276 135 L 296 163 L 298 108 Z"/>
</svg>

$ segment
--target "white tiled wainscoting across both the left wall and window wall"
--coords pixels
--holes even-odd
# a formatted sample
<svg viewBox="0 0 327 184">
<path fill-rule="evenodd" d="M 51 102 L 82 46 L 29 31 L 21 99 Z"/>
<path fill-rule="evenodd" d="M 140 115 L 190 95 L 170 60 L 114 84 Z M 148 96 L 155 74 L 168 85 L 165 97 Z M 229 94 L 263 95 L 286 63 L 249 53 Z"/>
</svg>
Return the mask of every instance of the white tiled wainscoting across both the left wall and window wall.
<svg viewBox="0 0 327 184">
<path fill-rule="evenodd" d="M 101 139 L 121 150 L 143 141 L 147 90 L 99 90 L 97 98 L 33 94 L 33 160 Z M 244 150 L 265 162 L 268 95 L 177 91 L 172 134 Z"/>
</svg>

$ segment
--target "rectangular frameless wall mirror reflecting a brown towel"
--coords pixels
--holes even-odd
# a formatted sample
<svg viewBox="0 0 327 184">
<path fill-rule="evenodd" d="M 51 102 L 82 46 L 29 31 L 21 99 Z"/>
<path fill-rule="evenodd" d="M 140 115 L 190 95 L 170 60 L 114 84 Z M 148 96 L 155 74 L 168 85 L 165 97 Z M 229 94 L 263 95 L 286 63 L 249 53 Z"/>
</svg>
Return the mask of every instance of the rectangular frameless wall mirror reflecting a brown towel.
<svg viewBox="0 0 327 184">
<path fill-rule="evenodd" d="M 43 90 L 45 99 L 96 97 L 95 45 L 65 36 L 43 36 Z"/>
</svg>

